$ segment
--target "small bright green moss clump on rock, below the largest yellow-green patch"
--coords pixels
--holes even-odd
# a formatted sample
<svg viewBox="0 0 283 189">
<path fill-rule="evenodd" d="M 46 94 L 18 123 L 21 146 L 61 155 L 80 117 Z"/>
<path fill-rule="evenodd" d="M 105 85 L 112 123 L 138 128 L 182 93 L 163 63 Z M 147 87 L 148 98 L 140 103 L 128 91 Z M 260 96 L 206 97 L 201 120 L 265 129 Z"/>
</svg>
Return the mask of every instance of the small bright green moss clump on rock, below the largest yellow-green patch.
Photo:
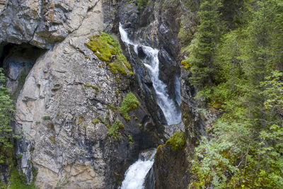
<svg viewBox="0 0 283 189">
<path fill-rule="evenodd" d="M 129 121 L 129 111 L 135 110 L 139 106 L 139 101 L 134 96 L 132 92 L 128 93 L 126 98 L 122 101 L 119 112 L 125 118 L 125 120 Z"/>
</svg>

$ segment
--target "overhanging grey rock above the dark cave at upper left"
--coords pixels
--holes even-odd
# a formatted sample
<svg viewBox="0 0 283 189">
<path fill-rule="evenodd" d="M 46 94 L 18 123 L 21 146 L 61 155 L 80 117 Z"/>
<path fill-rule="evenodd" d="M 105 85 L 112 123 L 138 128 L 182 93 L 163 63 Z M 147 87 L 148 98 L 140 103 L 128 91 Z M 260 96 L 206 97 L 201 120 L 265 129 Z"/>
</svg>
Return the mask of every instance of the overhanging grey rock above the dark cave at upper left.
<svg viewBox="0 0 283 189">
<path fill-rule="evenodd" d="M 50 49 L 78 30 L 98 0 L 4 1 L 0 4 L 0 44 L 23 42 Z M 103 17 L 102 17 L 103 18 Z"/>
</svg>

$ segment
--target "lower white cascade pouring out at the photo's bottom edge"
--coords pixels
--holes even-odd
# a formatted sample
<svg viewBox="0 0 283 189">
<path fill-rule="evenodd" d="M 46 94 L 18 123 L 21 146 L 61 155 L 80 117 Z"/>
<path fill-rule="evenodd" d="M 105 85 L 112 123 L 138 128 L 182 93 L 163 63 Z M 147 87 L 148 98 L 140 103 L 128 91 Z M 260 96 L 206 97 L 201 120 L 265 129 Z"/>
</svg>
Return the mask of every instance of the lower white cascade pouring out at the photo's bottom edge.
<svg viewBox="0 0 283 189">
<path fill-rule="evenodd" d="M 144 180 L 146 179 L 146 174 L 154 164 L 155 153 L 156 150 L 154 149 L 154 151 L 146 151 L 139 155 L 139 159 L 127 169 L 120 189 L 144 188 Z"/>
</svg>

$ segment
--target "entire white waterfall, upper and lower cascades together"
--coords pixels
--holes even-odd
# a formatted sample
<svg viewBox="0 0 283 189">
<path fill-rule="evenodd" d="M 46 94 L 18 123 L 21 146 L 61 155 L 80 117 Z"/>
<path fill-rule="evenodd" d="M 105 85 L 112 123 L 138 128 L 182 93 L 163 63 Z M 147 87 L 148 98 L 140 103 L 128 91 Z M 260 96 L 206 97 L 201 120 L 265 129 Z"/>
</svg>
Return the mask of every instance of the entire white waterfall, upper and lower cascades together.
<svg viewBox="0 0 283 189">
<path fill-rule="evenodd" d="M 137 43 L 129 40 L 127 32 L 122 28 L 122 24 L 119 26 L 121 39 L 126 45 L 134 45 L 134 51 L 138 55 L 138 47 L 141 47 L 146 57 L 141 59 L 141 62 L 149 71 L 149 76 L 151 77 L 152 84 L 154 86 L 154 91 L 156 93 L 156 103 L 163 111 L 166 118 L 167 125 L 175 125 L 182 121 L 180 109 L 176 106 L 173 99 L 168 95 L 168 90 L 166 84 L 161 81 L 159 76 L 159 50 L 154 49 L 149 46 L 139 45 Z M 180 80 L 176 76 L 174 81 L 176 88 L 176 101 L 180 105 Z M 179 91 L 178 91 L 179 90 Z M 144 156 L 142 153 L 147 153 Z M 146 152 L 141 152 L 139 154 L 139 159 L 129 166 L 125 173 L 125 179 L 122 182 L 120 189 L 142 189 L 144 188 L 144 181 L 146 179 L 146 174 L 149 172 L 154 164 L 155 150 L 148 150 Z"/>
</svg>

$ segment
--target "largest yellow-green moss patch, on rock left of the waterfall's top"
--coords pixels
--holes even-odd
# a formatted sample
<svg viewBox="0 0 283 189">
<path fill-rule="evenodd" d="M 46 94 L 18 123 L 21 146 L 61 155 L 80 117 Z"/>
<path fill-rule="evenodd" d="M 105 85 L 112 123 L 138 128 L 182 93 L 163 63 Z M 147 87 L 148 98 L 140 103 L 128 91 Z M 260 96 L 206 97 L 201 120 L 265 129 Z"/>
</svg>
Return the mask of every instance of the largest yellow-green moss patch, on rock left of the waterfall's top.
<svg viewBox="0 0 283 189">
<path fill-rule="evenodd" d="M 92 50 L 101 61 L 108 63 L 112 74 L 119 72 L 122 75 L 132 75 L 131 65 L 122 54 L 119 42 L 115 40 L 112 35 L 101 32 L 99 35 L 93 35 L 89 40 L 86 46 Z"/>
</svg>

